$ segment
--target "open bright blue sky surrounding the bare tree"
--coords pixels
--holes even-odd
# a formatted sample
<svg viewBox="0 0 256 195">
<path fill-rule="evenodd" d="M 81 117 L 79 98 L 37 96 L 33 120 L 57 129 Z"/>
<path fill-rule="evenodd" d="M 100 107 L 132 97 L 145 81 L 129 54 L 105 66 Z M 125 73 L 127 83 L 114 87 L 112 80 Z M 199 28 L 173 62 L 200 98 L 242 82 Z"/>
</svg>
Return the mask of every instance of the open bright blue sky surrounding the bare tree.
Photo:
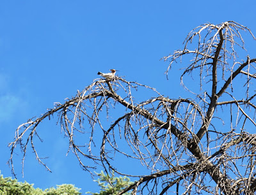
<svg viewBox="0 0 256 195">
<path fill-rule="evenodd" d="M 74 96 L 98 78 L 98 71 L 118 69 L 119 76 L 155 87 L 170 98 L 183 96 L 178 68 L 164 71 L 161 57 L 182 48 L 194 27 L 234 20 L 256 34 L 251 1 L 1 1 L 0 2 L 0 170 L 15 129 L 44 113 L 54 102 Z M 254 45 L 253 45 L 254 44 Z M 248 48 L 255 48 L 249 43 Z M 252 56 L 255 57 L 255 56 Z M 42 155 L 52 173 L 30 152 L 24 178 L 17 158 L 17 177 L 45 189 L 75 184 L 81 192 L 99 191 L 79 168 L 56 121 L 45 122 Z M 136 170 L 136 168 L 134 168 Z M 128 170 L 129 171 L 129 170 Z"/>
</svg>

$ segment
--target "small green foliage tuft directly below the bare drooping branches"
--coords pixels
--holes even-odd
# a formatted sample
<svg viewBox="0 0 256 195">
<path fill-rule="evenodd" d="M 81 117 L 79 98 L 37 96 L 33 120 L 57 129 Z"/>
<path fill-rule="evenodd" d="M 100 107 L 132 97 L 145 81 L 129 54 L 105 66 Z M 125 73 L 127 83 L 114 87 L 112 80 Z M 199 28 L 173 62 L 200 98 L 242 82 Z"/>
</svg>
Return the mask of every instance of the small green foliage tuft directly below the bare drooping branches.
<svg viewBox="0 0 256 195">
<path fill-rule="evenodd" d="M 105 175 L 103 171 L 100 173 L 97 173 L 99 176 L 98 180 L 95 180 L 100 186 L 100 192 L 99 193 L 93 193 L 93 192 L 86 192 L 87 194 L 93 194 L 93 195 L 109 195 L 109 194 L 118 194 L 118 192 L 125 189 L 125 187 L 131 185 L 133 182 L 130 182 L 130 179 L 128 177 L 115 177 L 114 173 L 112 173 L 112 176 L 109 177 L 108 175 Z M 131 194 L 131 192 L 126 192 L 126 195 Z"/>
</svg>

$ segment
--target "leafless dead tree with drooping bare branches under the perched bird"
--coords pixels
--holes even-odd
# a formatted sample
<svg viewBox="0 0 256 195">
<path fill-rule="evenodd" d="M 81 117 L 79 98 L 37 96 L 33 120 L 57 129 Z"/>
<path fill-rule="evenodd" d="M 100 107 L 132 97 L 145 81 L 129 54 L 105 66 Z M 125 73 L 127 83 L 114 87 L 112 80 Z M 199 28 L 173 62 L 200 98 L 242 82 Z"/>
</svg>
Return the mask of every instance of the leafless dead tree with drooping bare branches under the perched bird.
<svg viewBox="0 0 256 195">
<path fill-rule="evenodd" d="M 69 150 L 83 170 L 102 166 L 107 173 L 136 177 L 120 194 L 254 194 L 256 59 L 246 54 L 243 31 L 255 40 L 250 29 L 233 21 L 200 25 L 188 34 L 182 50 L 164 57 L 170 61 L 167 76 L 182 59 L 180 78 L 189 98 L 166 98 L 118 76 L 94 80 L 76 97 L 17 128 L 9 145 L 12 168 L 15 149 L 21 148 L 24 163 L 31 146 L 49 170 L 34 143 L 40 139 L 40 123 L 58 115 Z M 186 84 L 192 79 L 193 89 Z M 134 97 L 141 91 L 154 94 L 139 101 Z M 113 162 L 122 156 L 148 168 L 148 175 L 116 168 Z"/>
</svg>

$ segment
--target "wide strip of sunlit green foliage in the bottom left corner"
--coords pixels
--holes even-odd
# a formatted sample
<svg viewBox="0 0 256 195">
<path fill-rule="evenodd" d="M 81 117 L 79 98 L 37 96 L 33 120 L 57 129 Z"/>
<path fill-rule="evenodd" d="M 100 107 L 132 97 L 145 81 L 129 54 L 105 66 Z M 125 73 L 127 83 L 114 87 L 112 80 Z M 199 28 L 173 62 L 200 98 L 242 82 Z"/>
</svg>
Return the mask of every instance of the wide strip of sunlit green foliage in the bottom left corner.
<svg viewBox="0 0 256 195">
<path fill-rule="evenodd" d="M 51 187 L 49 189 L 34 188 L 34 184 L 28 182 L 18 182 L 16 179 L 10 177 L 4 178 L 0 175 L 0 194 L 1 195 L 79 195 L 81 194 L 77 187 L 72 184 L 57 185 L 56 189 Z"/>
</svg>

